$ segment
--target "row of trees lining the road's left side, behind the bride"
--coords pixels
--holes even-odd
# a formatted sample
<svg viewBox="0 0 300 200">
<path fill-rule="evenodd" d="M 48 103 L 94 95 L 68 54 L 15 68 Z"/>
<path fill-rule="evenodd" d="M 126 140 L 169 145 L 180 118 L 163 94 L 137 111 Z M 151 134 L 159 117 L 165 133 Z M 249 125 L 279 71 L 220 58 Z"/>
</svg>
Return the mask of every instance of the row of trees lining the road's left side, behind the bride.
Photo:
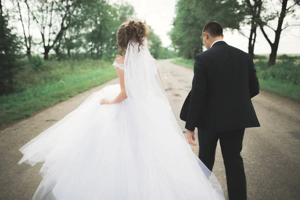
<svg viewBox="0 0 300 200">
<path fill-rule="evenodd" d="M 22 57 L 37 70 L 42 59 L 112 59 L 118 26 L 135 16 L 132 5 L 108 0 L 0 0 L 0 11 L 0 94 L 13 92 Z M 175 56 L 152 29 L 149 40 L 155 58 Z"/>
</svg>

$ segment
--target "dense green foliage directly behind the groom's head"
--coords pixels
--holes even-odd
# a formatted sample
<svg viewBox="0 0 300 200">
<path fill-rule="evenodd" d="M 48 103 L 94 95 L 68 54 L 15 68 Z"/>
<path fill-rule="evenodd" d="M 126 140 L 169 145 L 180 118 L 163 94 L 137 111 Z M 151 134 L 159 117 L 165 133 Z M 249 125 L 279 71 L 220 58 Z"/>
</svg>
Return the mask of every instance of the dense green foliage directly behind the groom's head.
<svg viewBox="0 0 300 200">
<path fill-rule="evenodd" d="M 236 0 L 178 0 L 169 35 L 178 55 L 190 59 L 202 51 L 202 28 L 207 22 L 239 28 L 242 19 Z"/>
</svg>

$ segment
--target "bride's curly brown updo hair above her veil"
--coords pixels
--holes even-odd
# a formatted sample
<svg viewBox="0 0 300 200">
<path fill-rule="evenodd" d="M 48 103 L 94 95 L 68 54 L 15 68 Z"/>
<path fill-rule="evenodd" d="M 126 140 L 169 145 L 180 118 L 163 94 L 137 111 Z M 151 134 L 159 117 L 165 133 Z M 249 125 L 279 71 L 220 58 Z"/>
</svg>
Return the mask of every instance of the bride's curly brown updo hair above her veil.
<svg viewBox="0 0 300 200">
<path fill-rule="evenodd" d="M 123 51 L 127 48 L 130 40 L 142 45 L 143 39 L 149 35 L 149 29 L 145 22 L 139 20 L 129 20 L 122 23 L 116 31 L 116 43 L 118 46 L 118 52 L 123 56 Z"/>
</svg>

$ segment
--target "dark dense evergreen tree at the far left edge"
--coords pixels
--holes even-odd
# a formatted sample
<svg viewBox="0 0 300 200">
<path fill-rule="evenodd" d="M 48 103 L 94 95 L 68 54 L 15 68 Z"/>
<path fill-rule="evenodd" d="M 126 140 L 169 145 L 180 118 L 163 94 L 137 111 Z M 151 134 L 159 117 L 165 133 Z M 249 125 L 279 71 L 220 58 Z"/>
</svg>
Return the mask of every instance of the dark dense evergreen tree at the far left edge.
<svg viewBox="0 0 300 200">
<path fill-rule="evenodd" d="M 13 72 L 18 67 L 19 38 L 8 26 L 8 18 L 0 0 L 0 94 L 13 92 Z"/>
</svg>

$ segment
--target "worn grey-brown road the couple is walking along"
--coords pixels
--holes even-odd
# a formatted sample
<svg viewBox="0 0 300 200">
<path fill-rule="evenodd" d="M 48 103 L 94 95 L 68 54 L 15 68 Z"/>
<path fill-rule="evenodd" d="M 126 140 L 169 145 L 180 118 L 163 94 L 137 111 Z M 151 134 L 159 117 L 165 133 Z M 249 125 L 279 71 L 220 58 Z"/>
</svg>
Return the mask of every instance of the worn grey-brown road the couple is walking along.
<svg viewBox="0 0 300 200">
<path fill-rule="evenodd" d="M 173 112 L 184 130 L 178 116 L 190 90 L 193 72 L 169 60 L 158 64 Z M 21 158 L 18 149 L 76 108 L 89 94 L 112 83 L 117 83 L 117 79 L 0 129 L 0 199 L 31 199 L 41 180 L 38 175 L 41 164 L 17 165 Z M 261 127 L 246 129 L 243 142 L 248 199 L 300 199 L 300 104 L 264 91 L 252 102 Z M 193 151 L 197 153 L 197 146 Z M 226 194 L 219 147 L 213 172 Z"/>
</svg>

